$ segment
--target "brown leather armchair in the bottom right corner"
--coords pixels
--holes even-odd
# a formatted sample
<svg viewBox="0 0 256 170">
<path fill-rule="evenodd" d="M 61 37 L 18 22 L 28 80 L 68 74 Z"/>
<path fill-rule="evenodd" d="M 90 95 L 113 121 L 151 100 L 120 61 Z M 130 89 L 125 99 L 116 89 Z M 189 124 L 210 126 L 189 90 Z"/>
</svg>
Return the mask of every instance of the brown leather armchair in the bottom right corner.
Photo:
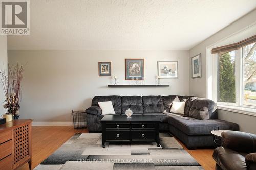
<svg viewBox="0 0 256 170">
<path fill-rule="evenodd" d="M 222 132 L 222 146 L 214 150 L 216 169 L 256 169 L 256 135 L 239 132 Z"/>
</svg>

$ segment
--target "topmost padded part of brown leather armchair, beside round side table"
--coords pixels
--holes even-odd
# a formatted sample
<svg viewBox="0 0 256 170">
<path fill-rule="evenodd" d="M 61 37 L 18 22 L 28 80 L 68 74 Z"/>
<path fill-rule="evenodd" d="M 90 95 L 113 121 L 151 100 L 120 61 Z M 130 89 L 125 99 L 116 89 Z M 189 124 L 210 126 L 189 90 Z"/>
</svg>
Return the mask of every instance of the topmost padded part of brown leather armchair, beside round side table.
<svg viewBox="0 0 256 170">
<path fill-rule="evenodd" d="M 256 135 L 239 132 L 224 131 L 222 135 L 222 146 L 237 152 L 256 152 Z"/>
</svg>

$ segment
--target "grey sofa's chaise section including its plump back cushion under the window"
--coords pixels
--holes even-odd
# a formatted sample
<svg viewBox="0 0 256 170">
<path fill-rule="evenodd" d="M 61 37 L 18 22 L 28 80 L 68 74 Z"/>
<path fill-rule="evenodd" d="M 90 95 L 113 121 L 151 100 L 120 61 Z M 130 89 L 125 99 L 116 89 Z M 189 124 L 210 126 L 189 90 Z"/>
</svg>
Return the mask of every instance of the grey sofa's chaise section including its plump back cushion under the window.
<svg viewBox="0 0 256 170">
<path fill-rule="evenodd" d="M 180 139 L 187 148 L 211 147 L 214 145 L 210 133 L 214 127 L 239 131 L 236 123 L 219 120 L 216 104 L 208 99 L 189 97 L 186 101 L 185 114 L 169 115 L 169 131 Z"/>
</svg>

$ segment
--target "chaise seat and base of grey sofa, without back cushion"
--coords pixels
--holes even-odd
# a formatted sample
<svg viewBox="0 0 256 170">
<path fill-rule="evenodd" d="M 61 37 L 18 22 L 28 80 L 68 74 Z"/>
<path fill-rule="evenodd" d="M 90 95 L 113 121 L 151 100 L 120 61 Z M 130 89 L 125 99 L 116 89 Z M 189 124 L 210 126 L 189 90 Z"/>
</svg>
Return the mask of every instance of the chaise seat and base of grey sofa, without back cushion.
<svg viewBox="0 0 256 170">
<path fill-rule="evenodd" d="M 214 127 L 227 130 L 239 130 L 236 123 L 218 119 L 199 120 L 192 117 L 169 117 L 169 131 L 180 139 L 188 149 L 196 147 L 211 147 L 214 145 L 210 133 Z"/>
</svg>

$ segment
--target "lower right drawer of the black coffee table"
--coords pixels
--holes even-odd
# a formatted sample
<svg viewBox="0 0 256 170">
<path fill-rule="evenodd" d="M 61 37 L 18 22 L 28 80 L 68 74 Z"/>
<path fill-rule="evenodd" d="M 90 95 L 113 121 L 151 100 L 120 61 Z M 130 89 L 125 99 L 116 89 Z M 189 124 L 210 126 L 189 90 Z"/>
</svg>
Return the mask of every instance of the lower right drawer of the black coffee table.
<svg viewBox="0 0 256 170">
<path fill-rule="evenodd" d="M 132 140 L 155 140 L 156 131 L 132 131 Z"/>
</svg>

